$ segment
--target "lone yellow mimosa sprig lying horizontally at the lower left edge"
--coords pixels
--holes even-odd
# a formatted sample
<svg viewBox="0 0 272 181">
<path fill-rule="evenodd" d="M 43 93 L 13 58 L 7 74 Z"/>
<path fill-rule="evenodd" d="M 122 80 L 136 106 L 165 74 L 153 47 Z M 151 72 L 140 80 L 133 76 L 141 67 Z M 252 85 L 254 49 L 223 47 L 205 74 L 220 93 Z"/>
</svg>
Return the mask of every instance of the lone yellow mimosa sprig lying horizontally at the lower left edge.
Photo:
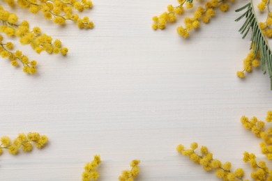
<svg viewBox="0 0 272 181">
<path fill-rule="evenodd" d="M 20 149 L 24 152 L 30 152 L 33 149 L 31 143 L 34 143 L 36 148 L 41 149 L 47 143 L 47 136 L 40 135 L 38 132 L 21 133 L 13 141 L 10 140 L 9 136 L 2 136 L 0 138 L 0 155 L 5 149 L 12 155 L 17 155 Z"/>
</svg>

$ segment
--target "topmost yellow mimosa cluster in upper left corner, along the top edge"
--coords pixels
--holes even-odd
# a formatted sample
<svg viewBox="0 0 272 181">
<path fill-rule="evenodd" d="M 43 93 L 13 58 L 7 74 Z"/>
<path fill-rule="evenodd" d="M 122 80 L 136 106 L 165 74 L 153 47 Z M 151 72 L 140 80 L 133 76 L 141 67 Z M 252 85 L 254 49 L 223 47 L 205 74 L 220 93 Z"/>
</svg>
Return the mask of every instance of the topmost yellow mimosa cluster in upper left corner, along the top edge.
<svg viewBox="0 0 272 181">
<path fill-rule="evenodd" d="M 6 0 L 10 6 L 16 4 L 22 8 L 28 8 L 30 13 L 36 14 L 41 11 L 45 19 L 52 19 L 56 24 L 65 24 L 66 20 L 71 20 L 80 29 L 93 29 L 93 22 L 89 17 L 82 19 L 73 10 L 82 12 L 84 9 L 91 9 L 93 3 L 90 0 Z"/>
</svg>

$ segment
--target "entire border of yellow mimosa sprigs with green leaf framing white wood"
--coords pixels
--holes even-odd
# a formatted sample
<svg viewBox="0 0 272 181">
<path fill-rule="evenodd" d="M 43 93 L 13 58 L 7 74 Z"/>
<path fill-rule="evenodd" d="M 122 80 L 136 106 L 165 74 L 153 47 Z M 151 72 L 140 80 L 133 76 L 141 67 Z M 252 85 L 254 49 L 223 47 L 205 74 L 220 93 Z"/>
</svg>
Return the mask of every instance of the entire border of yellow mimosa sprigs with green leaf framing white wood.
<svg viewBox="0 0 272 181">
<path fill-rule="evenodd" d="M 211 18 L 216 15 L 216 8 L 219 8 L 222 12 L 226 12 L 229 8 L 229 3 L 234 0 L 210 0 L 206 1 L 204 6 L 199 6 L 193 13 L 192 17 L 186 17 L 184 19 L 185 26 L 178 26 L 176 31 L 183 38 L 188 38 L 190 33 L 195 29 L 199 29 L 201 22 L 209 23 Z M 93 4 L 89 0 L 6 0 L 9 6 L 20 6 L 21 8 L 28 8 L 30 13 L 43 13 L 45 19 L 51 19 L 54 23 L 63 25 L 66 21 L 70 20 L 75 22 L 80 29 L 93 29 L 93 22 L 89 20 L 89 17 L 83 17 L 73 13 L 73 10 L 82 12 L 84 9 L 92 8 Z M 240 78 L 245 77 L 245 72 L 252 72 L 252 68 L 262 66 L 264 73 L 269 72 L 269 76 L 272 81 L 272 54 L 269 45 L 266 43 L 266 38 L 272 38 L 272 13 L 270 12 L 269 5 L 270 0 L 262 0 L 258 4 L 260 11 L 268 11 L 265 22 L 257 22 L 255 10 L 252 5 L 252 0 L 242 8 L 236 10 L 237 12 L 245 10 L 245 13 L 241 15 L 236 21 L 245 17 L 245 23 L 239 30 L 243 34 L 243 38 L 247 36 L 249 30 L 251 34 L 251 45 L 248 56 L 243 60 L 243 70 L 238 71 L 236 74 Z M 178 15 L 183 15 L 184 8 L 192 8 L 194 2 L 192 0 L 178 0 L 177 6 L 167 6 L 167 12 L 162 13 L 159 16 L 153 17 L 152 28 L 165 29 L 168 23 L 176 22 Z M 47 52 L 48 54 L 62 54 L 66 55 L 68 49 L 62 47 L 60 40 L 52 40 L 51 36 L 42 33 L 38 26 L 34 26 L 30 29 L 27 21 L 18 22 L 18 17 L 15 13 L 10 13 L 8 10 L 4 10 L 0 6 L 0 31 L 5 33 L 6 36 L 15 36 L 19 38 L 22 45 L 31 45 L 36 53 Z M 29 61 L 29 58 L 22 54 L 20 50 L 13 52 L 13 43 L 5 42 L 3 36 L 0 35 L 0 55 L 3 58 L 8 58 L 11 65 L 17 66 L 22 64 L 22 70 L 29 74 L 36 73 L 36 61 Z M 272 85 L 272 84 L 271 84 Z M 266 116 L 268 123 L 272 122 L 272 111 L 268 111 Z M 262 120 L 258 120 L 256 117 L 251 119 L 243 116 L 241 123 L 245 129 L 249 129 L 255 136 L 263 140 L 260 143 L 262 153 L 266 155 L 266 158 L 272 159 L 272 127 L 265 129 L 265 123 Z M 12 155 L 17 155 L 21 149 L 24 152 L 29 152 L 33 149 L 34 143 L 36 148 L 43 148 L 47 143 L 47 136 L 40 135 L 37 132 L 29 132 L 28 134 L 19 134 L 14 141 L 11 141 L 8 136 L 2 136 L 0 138 L 0 155 L 3 150 L 8 150 Z M 213 159 L 213 154 L 208 151 L 206 146 L 200 148 L 200 153 L 197 153 L 198 144 L 193 142 L 190 145 L 190 149 L 185 149 L 183 145 L 178 145 L 176 150 L 182 155 L 186 155 L 195 162 L 203 166 L 205 171 L 215 171 L 216 176 L 222 180 L 244 180 L 244 171 L 242 168 L 236 168 L 235 171 L 231 171 L 232 164 L 230 162 L 222 162 L 219 159 Z M 272 170 L 266 166 L 266 162 L 259 161 L 254 154 L 244 152 L 243 161 L 250 163 L 253 169 L 251 178 L 255 180 L 272 180 Z M 96 171 L 100 164 L 100 156 L 95 155 L 93 161 L 87 163 L 84 166 L 84 172 L 82 173 L 82 180 L 98 180 L 99 174 Z M 130 163 L 131 169 L 122 171 L 119 176 L 120 181 L 134 180 L 139 174 L 139 160 L 135 159 Z"/>
</svg>

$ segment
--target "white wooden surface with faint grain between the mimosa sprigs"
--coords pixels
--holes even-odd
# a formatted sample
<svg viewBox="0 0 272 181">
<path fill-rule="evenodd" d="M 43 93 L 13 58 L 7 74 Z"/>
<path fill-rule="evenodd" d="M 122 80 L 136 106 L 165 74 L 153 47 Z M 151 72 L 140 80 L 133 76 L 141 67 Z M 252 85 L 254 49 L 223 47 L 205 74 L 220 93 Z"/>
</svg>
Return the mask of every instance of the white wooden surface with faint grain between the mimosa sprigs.
<svg viewBox="0 0 272 181">
<path fill-rule="evenodd" d="M 217 180 L 177 154 L 176 145 L 192 141 L 234 168 L 249 168 L 245 150 L 264 158 L 259 140 L 239 122 L 271 109 L 267 75 L 236 77 L 250 42 L 241 40 L 234 10 L 246 1 L 218 12 L 188 40 L 176 33 L 181 18 L 165 31 L 150 28 L 151 17 L 174 0 L 93 3 L 85 13 L 96 24 L 90 31 L 14 10 L 70 52 L 39 56 L 17 43 L 38 60 L 34 77 L 1 61 L 0 135 L 36 131 L 50 139 L 43 150 L 1 155 L 1 180 L 80 180 L 95 154 L 103 159 L 100 180 L 117 180 L 132 159 L 142 161 L 141 181 Z"/>
</svg>

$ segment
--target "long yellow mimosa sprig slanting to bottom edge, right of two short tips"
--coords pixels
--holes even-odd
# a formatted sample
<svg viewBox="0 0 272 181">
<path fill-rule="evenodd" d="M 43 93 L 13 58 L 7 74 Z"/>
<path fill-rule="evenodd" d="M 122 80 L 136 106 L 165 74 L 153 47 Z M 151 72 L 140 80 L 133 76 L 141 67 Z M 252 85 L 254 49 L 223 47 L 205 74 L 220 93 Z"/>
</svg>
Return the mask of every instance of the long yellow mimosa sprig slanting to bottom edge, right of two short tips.
<svg viewBox="0 0 272 181">
<path fill-rule="evenodd" d="M 213 159 L 213 154 L 209 152 L 206 146 L 200 148 L 200 155 L 195 152 L 197 148 L 198 144 L 193 142 L 188 150 L 183 145 L 178 145 L 176 150 L 182 155 L 189 157 L 195 164 L 202 165 L 204 171 L 216 171 L 216 176 L 222 180 L 243 180 L 244 171 L 242 168 L 236 168 L 235 171 L 232 171 L 230 162 L 222 163 L 219 159 Z"/>
</svg>

